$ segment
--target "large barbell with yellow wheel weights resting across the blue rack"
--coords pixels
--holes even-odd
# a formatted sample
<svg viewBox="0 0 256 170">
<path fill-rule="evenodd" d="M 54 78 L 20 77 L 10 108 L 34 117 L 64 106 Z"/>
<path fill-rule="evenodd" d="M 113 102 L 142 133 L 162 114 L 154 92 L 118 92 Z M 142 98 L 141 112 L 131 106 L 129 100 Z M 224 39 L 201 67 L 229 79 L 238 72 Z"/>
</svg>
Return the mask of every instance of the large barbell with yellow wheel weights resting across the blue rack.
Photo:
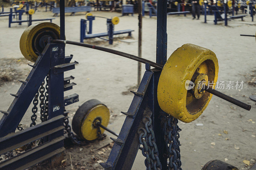
<svg viewBox="0 0 256 170">
<path fill-rule="evenodd" d="M 114 49 L 60 40 L 60 27 L 56 24 L 45 22 L 31 25 L 24 31 L 20 38 L 20 50 L 26 59 L 36 62 L 38 55 L 42 53 L 46 44 L 50 42 L 93 48 L 141 63 L 149 63 L 151 66 L 162 70 L 157 87 L 158 104 L 163 111 L 182 122 L 192 122 L 197 119 L 207 107 L 212 95 L 216 95 L 246 110 L 251 109 L 250 105 L 214 90 L 218 78 L 218 59 L 207 48 L 184 44 L 172 53 L 163 66 Z M 196 86 L 192 89 L 186 89 L 187 81 Z M 212 85 L 208 85 L 208 81 L 212 82 Z"/>
</svg>

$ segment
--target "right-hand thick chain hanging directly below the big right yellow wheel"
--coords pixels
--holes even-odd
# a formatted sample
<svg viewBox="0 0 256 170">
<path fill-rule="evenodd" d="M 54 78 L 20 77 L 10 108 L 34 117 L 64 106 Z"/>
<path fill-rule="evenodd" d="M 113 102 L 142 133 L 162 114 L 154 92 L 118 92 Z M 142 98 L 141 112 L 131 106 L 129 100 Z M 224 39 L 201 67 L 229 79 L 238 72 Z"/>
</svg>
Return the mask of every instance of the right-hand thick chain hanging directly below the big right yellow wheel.
<svg viewBox="0 0 256 170">
<path fill-rule="evenodd" d="M 177 125 L 178 119 L 171 115 L 165 115 L 162 119 L 164 122 L 164 141 L 168 152 L 169 164 L 168 170 L 182 170 L 180 161 L 180 130 Z"/>
</svg>

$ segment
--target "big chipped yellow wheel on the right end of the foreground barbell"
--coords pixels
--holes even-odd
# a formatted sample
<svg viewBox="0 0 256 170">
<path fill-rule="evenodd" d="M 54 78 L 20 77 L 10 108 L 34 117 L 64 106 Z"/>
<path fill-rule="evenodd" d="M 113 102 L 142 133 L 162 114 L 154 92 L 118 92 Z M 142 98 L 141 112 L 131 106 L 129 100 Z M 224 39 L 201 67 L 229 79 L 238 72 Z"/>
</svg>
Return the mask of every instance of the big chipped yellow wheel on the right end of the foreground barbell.
<svg viewBox="0 0 256 170">
<path fill-rule="evenodd" d="M 196 120 L 207 107 L 212 94 L 204 92 L 201 98 L 196 99 L 186 85 L 193 81 L 195 75 L 203 73 L 211 83 L 209 86 L 214 88 L 218 70 L 218 59 L 211 50 L 184 44 L 164 64 L 157 87 L 159 106 L 182 122 Z"/>
</svg>

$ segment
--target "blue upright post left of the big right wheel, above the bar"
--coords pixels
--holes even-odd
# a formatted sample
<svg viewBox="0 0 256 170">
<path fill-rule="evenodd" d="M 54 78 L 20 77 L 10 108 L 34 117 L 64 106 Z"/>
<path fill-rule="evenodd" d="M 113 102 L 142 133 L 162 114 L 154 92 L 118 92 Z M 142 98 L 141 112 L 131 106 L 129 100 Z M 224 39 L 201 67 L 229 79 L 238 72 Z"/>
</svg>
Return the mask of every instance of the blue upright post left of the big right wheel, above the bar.
<svg viewBox="0 0 256 170">
<path fill-rule="evenodd" d="M 157 0 L 156 63 L 164 65 L 167 56 L 167 1 Z"/>
</svg>

